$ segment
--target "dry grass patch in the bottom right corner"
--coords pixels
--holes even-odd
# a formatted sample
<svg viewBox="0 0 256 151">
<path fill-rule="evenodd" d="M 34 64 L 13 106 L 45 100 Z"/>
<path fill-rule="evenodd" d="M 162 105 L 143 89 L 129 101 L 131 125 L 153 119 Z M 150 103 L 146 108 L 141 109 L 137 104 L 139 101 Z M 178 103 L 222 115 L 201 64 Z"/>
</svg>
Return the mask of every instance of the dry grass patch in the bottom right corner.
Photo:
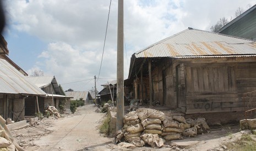
<svg viewBox="0 0 256 151">
<path fill-rule="evenodd" d="M 250 134 L 243 134 L 240 140 L 225 144 L 228 150 L 234 151 L 254 151 L 256 149 L 256 141 L 252 139 Z"/>
</svg>

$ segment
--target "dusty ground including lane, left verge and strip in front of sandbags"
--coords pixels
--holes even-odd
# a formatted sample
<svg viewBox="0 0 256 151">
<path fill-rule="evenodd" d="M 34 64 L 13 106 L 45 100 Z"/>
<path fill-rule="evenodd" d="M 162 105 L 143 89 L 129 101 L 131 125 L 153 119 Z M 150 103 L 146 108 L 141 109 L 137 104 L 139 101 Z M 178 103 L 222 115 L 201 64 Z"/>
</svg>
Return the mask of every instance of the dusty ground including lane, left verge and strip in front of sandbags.
<svg viewBox="0 0 256 151">
<path fill-rule="evenodd" d="M 75 114 L 64 118 L 45 118 L 34 126 L 13 130 L 15 140 L 27 150 L 219 150 L 222 143 L 232 142 L 241 133 L 238 126 L 226 126 L 213 129 L 205 135 L 166 142 L 162 148 L 141 147 L 134 149 L 119 148 L 113 144 L 113 138 L 104 137 L 99 133 L 100 125 L 106 113 L 96 113 L 96 107 L 91 105 L 79 107 Z M 232 135 L 235 133 L 235 135 Z M 232 137 L 231 137 L 232 135 Z M 232 139 L 231 139 L 232 138 Z M 181 149 L 183 148 L 183 149 Z"/>
</svg>

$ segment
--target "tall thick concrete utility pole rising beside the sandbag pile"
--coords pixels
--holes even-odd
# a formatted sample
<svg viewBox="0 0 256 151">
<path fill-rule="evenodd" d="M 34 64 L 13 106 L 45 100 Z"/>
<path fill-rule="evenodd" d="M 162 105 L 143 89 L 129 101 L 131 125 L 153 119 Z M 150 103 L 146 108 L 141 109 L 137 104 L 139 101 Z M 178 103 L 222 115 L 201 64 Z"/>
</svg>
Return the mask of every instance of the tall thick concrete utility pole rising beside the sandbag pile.
<svg viewBox="0 0 256 151">
<path fill-rule="evenodd" d="M 117 124 L 116 131 L 123 128 L 123 0 L 118 0 L 117 23 Z"/>
</svg>

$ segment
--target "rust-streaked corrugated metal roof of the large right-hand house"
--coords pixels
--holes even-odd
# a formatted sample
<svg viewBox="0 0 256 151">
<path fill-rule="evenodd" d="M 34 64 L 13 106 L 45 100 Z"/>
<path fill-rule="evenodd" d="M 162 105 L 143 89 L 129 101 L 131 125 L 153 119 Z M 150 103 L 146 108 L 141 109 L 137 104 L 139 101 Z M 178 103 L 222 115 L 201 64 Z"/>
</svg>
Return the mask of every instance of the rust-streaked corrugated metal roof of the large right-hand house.
<svg viewBox="0 0 256 151">
<path fill-rule="evenodd" d="M 253 40 L 188 28 L 135 53 L 135 57 L 256 54 Z"/>
</svg>

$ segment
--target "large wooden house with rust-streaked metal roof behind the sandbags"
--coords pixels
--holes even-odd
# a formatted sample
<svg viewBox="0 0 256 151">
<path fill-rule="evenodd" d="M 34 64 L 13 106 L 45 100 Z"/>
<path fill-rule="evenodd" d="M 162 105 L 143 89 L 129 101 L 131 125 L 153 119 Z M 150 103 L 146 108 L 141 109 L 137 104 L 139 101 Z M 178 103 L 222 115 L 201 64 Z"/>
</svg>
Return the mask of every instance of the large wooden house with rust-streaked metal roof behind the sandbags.
<svg viewBox="0 0 256 151">
<path fill-rule="evenodd" d="M 134 53 L 128 76 L 134 98 L 226 123 L 256 90 L 256 43 L 188 28 Z"/>
</svg>

